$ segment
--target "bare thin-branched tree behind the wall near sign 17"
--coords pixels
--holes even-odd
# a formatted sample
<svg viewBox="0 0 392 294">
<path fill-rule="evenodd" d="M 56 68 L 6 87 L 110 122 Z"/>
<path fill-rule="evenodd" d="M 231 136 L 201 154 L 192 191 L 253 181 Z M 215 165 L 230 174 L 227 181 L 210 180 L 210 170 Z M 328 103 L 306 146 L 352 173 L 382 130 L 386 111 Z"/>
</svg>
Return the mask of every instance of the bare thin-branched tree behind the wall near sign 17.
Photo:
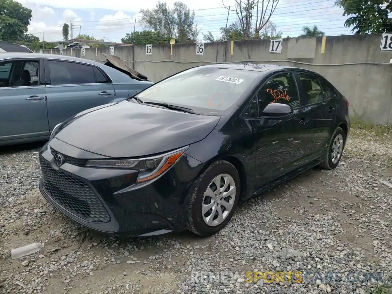
<svg viewBox="0 0 392 294">
<path fill-rule="evenodd" d="M 279 0 L 235 0 L 235 2 L 234 9 L 225 6 L 224 3 L 223 6 L 236 13 L 243 40 L 259 39 L 261 29 L 270 21 Z"/>
</svg>

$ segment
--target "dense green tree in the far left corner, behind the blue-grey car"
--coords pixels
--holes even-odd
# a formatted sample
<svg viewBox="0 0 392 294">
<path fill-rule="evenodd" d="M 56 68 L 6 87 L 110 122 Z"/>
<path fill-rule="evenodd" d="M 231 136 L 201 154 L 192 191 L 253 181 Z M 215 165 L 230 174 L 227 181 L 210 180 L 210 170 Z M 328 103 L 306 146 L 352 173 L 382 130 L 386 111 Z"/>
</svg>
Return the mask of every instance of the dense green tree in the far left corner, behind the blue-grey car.
<svg viewBox="0 0 392 294">
<path fill-rule="evenodd" d="M 0 1 L 0 40 L 16 42 L 27 32 L 32 16 L 31 9 L 14 0 Z"/>
</svg>

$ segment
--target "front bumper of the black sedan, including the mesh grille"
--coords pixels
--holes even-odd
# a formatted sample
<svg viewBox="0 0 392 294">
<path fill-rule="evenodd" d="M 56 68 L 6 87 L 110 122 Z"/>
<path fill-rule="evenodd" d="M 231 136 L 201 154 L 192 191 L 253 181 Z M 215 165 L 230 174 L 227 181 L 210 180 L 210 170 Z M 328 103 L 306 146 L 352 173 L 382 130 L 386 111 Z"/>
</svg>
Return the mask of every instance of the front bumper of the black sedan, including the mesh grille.
<svg viewBox="0 0 392 294">
<path fill-rule="evenodd" d="M 65 157 L 60 167 L 54 163 L 57 152 Z M 158 180 L 136 186 L 136 171 L 84 167 L 87 159 L 105 157 L 56 138 L 39 157 L 40 191 L 49 203 L 85 227 L 131 236 L 185 230 L 188 191 L 203 166 L 184 154 Z"/>
</svg>

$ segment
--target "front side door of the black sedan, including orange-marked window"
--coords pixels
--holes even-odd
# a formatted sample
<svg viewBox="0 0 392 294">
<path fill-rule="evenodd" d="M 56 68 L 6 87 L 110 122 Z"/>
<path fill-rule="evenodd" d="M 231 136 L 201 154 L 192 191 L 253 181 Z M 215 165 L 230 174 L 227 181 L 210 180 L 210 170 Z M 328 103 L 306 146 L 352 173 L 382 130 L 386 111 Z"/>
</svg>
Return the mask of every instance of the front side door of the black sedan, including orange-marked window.
<svg viewBox="0 0 392 294">
<path fill-rule="evenodd" d="M 271 76 L 256 93 L 258 117 L 256 129 L 256 184 L 263 186 L 303 165 L 309 132 L 309 114 L 301 109 L 293 73 Z M 281 118 L 263 118 L 269 103 L 285 103 L 292 114 Z"/>
</svg>

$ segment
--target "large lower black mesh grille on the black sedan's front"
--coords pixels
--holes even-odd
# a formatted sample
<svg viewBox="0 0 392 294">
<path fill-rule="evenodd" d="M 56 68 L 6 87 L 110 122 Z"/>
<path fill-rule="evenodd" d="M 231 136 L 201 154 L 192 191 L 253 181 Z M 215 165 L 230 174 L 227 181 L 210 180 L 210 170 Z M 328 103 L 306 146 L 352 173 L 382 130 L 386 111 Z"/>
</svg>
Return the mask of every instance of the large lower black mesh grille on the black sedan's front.
<svg viewBox="0 0 392 294">
<path fill-rule="evenodd" d="M 91 222 L 107 222 L 110 216 L 94 191 L 84 181 L 64 171 L 55 171 L 40 157 L 45 192 L 59 205 Z"/>
</svg>

